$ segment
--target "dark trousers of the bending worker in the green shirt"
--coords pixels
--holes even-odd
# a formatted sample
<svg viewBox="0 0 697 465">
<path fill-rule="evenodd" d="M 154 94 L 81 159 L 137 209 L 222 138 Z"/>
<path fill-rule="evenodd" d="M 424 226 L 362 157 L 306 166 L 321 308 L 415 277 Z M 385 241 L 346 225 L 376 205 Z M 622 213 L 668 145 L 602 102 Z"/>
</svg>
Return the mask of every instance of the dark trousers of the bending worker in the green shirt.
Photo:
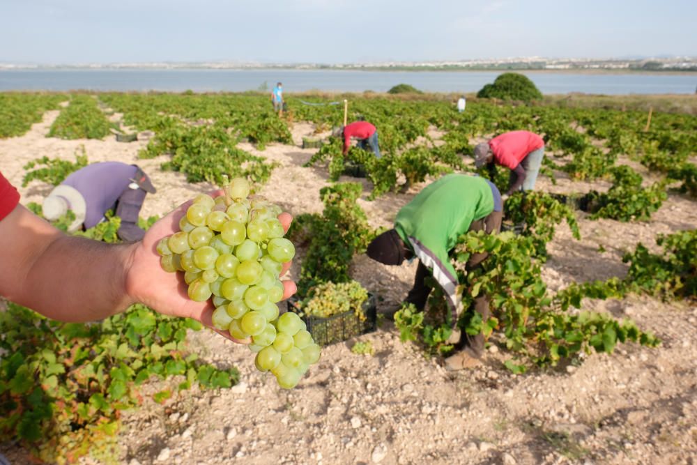
<svg viewBox="0 0 697 465">
<path fill-rule="evenodd" d="M 498 233 L 498 231 L 501 229 L 502 218 L 502 212 L 493 211 L 489 214 L 489 216 L 472 222 L 468 232 L 484 230 L 487 231 L 488 234 Z M 477 266 L 480 266 L 482 261 L 484 261 L 484 259 L 486 259 L 488 256 L 489 254 L 486 253 L 473 254 L 472 257 L 470 257 L 470 259 L 467 261 L 466 269 L 468 271 L 474 270 L 477 268 Z M 416 269 L 416 276 L 414 277 L 414 286 L 406 296 L 406 302 L 413 303 L 419 310 L 423 310 L 423 308 L 426 306 L 426 301 L 429 298 L 429 294 L 431 294 L 431 287 L 424 282 L 424 278 L 430 275 L 431 272 L 429 269 L 424 266 L 421 261 L 419 261 L 419 266 Z M 475 298 L 473 307 L 475 312 L 482 315 L 482 321 L 487 321 L 487 319 L 489 319 L 491 316 L 491 312 L 489 311 L 489 296 L 480 295 L 479 297 Z M 470 349 L 472 349 L 476 355 L 482 355 L 482 352 L 484 351 L 484 336 L 481 334 L 472 336 L 464 332 L 463 334 L 467 338 L 467 344 L 470 346 Z"/>
</svg>

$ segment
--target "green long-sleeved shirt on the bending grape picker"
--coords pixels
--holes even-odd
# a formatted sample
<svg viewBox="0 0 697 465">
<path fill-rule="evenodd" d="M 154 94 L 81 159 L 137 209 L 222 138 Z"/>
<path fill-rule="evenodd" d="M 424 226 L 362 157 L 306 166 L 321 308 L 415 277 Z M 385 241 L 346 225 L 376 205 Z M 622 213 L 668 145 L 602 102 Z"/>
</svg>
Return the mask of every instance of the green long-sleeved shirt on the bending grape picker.
<svg viewBox="0 0 697 465">
<path fill-rule="evenodd" d="M 448 174 L 427 185 L 397 213 L 397 234 L 443 287 L 453 315 L 461 298 L 448 253 L 473 221 L 500 211 L 501 206 L 498 189 L 486 179 Z"/>
</svg>

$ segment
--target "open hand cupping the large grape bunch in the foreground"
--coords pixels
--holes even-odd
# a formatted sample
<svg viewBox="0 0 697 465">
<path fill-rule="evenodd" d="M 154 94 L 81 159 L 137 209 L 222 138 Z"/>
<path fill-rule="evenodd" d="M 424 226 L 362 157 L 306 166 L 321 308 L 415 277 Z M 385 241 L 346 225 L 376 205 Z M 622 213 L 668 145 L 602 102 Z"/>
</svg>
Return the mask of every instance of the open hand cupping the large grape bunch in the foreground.
<svg viewBox="0 0 697 465">
<path fill-rule="evenodd" d="M 212 197 L 223 195 L 222 190 L 211 194 Z M 153 224 L 146 231 L 141 242 L 131 245 L 130 264 L 126 268 L 125 285 L 126 293 L 136 302 L 144 303 L 155 312 L 171 315 L 173 317 L 192 318 L 200 321 L 208 328 L 215 330 L 227 339 L 240 344 L 249 344 L 250 340 L 237 340 L 227 331 L 217 330 L 213 327 L 213 303 L 195 302 L 187 294 L 187 284 L 184 282 L 183 273 L 167 273 L 160 266 L 160 254 L 155 247 L 164 236 L 174 234 L 179 230 L 179 220 L 186 214 L 192 200 L 185 202 L 176 210 Z M 293 217 L 289 213 L 281 213 L 278 219 L 283 225 L 284 231 L 288 231 Z M 283 265 L 281 275 L 290 268 L 291 262 Z M 284 281 L 283 298 L 289 298 L 296 292 L 296 284 L 293 281 Z"/>
</svg>

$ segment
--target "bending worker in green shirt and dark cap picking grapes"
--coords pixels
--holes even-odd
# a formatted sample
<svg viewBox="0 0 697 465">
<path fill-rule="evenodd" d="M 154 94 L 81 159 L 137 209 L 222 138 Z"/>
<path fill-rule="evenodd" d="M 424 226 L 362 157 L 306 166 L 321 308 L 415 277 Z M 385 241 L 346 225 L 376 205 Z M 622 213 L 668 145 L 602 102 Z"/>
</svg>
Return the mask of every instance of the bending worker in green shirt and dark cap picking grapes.
<svg viewBox="0 0 697 465">
<path fill-rule="evenodd" d="M 407 259 L 419 259 L 414 285 L 406 302 L 423 310 L 431 288 L 424 283 L 429 273 L 441 285 L 451 312 L 451 321 L 457 323 L 461 313 L 461 296 L 457 293 L 457 273 L 448 254 L 457 244 L 457 238 L 467 231 L 496 233 L 503 217 L 503 202 L 496 185 L 478 176 L 448 174 L 427 185 L 411 202 L 397 213 L 395 227 L 377 236 L 369 245 L 370 258 L 385 265 L 401 265 Z M 467 261 L 468 270 L 487 258 L 487 254 L 473 254 Z M 475 299 L 476 312 L 489 319 L 489 298 Z M 463 369 L 479 365 L 484 351 L 483 335 L 464 335 L 457 346 L 466 343 L 445 360 L 448 369 Z M 462 336 L 461 336 L 462 337 Z"/>
</svg>

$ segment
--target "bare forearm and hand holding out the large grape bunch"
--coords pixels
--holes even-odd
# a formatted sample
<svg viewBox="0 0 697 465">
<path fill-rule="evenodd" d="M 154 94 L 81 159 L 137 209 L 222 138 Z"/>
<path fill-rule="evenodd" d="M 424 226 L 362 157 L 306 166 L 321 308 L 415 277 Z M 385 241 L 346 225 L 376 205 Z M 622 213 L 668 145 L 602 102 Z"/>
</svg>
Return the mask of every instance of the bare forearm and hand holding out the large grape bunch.
<svg viewBox="0 0 697 465">
<path fill-rule="evenodd" d="M 155 250 L 160 238 L 178 230 L 190 204 L 153 224 L 142 241 L 127 245 L 66 236 L 17 205 L 0 221 L 0 295 L 61 321 L 103 319 L 140 302 L 212 327 L 213 305 L 190 300 L 181 273 L 162 270 Z M 279 220 L 287 230 L 292 218 L 282 213 Z M 296 291 L 291 281 L 284 287 L 284 298 Z"/>
</svg>

